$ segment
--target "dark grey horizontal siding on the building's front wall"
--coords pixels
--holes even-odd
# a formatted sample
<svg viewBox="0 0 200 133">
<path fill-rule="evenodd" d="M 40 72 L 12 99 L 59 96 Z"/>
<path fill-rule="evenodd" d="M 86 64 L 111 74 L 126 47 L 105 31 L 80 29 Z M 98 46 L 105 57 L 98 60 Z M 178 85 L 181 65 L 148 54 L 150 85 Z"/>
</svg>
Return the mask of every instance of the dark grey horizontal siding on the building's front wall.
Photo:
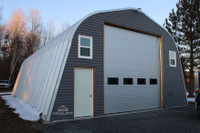
<svg viewBox="0 0 200 133">
<path fill-rule="evenodd" d="M 103 38 L 104 22 L 122 25 L 159 34 L 163 37 L 164 58 L 164 106 L 174 107 L 186 105 L 184 81 L 177 53 L 177 67 L 169 67 L 169 50 L 176 51 L 175 44 L 169 34 L 143 13 L 135 10 L 99 13 L 87 18 L 77 29 L 70 49 L 69 57 L 63 72 L 60 87 L 54 103 L 51 120 L 72 119 L 73 115 L 57 116 L 53 112 L 61 105 L 73 111 L 73 67 L 95 67 L 95 116 L 103 115 Z M 93 37 L 93 59 L 78 59 L 78 34 Z"/>
</svg>

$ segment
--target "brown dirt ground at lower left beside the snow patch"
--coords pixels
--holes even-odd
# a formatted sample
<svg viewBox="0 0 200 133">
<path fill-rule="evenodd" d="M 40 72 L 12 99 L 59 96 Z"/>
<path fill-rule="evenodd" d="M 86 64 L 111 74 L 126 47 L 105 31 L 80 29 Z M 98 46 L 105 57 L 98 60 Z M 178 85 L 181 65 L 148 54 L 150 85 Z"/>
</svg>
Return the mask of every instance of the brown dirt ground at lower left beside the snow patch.
<svg viewBox="0 0 200 133">
<path fill-rule="evenodd" d="M 1 92 L 8 92 L 8 89 L 1 89 Z M 25 121 L 13 113 L 14 109 L 8 108 L 0 96 L 0 132 L 1 133 L 38 133 L 37 126 L 41 122 Z"/>
</svg>

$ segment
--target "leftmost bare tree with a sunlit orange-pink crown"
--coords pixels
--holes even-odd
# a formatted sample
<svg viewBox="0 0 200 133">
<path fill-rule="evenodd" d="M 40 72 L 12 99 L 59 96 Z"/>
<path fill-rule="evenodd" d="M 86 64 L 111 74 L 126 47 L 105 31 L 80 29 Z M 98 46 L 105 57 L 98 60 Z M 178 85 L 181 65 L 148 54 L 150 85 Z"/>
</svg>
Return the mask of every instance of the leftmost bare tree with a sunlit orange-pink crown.
<svg viewBox="0 0 200 133">
<path fill-rule="evenodd" d="M 15 9 L 7 23 L 7 32 L 9 34 L 11 53 L 9 80 L 15 78 L 13 77 L 13 74 L 15 71 L 19 70 L 19 64 L 24 60 L 25 34 L 27 31 L 26 26 L 27 23 L 24 12 L 20 8 Z"/>
</svg>

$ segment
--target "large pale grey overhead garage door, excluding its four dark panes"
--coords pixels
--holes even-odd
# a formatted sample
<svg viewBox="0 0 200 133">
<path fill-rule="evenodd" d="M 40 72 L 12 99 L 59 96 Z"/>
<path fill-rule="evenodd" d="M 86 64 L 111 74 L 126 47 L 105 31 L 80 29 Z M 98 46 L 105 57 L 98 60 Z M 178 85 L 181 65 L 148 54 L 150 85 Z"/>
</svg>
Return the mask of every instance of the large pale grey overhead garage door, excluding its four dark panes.
<svg viewBox="0 0 200 133">
<path fill-rule="evenodd" d="M 159 39 L 133 31 L 105 26 L 104 40 L 105 113 L 158 108 L 160 106 Z M 118 85 L 108 85 L 108 77 L 118 77 Z M 133 85 L 123 85 L 133 78 Z M 137 78 L 145 78 L 138 85 Z M 150 85 L 150 79 L 157 79 Z"/>
</svg>

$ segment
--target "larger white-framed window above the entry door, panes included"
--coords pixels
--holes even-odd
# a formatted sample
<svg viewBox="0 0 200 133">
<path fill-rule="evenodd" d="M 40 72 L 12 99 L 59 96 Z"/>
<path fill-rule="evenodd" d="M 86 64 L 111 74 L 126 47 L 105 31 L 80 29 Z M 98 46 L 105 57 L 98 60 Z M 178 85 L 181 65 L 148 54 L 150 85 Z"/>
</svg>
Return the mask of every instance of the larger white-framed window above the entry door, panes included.
<svg viewBox="0 0 200 133">
<path fill-rule="evenodd" d="M 92 37 L 78 36 L 78 58 L 92 59 Z"/>
</svg>

